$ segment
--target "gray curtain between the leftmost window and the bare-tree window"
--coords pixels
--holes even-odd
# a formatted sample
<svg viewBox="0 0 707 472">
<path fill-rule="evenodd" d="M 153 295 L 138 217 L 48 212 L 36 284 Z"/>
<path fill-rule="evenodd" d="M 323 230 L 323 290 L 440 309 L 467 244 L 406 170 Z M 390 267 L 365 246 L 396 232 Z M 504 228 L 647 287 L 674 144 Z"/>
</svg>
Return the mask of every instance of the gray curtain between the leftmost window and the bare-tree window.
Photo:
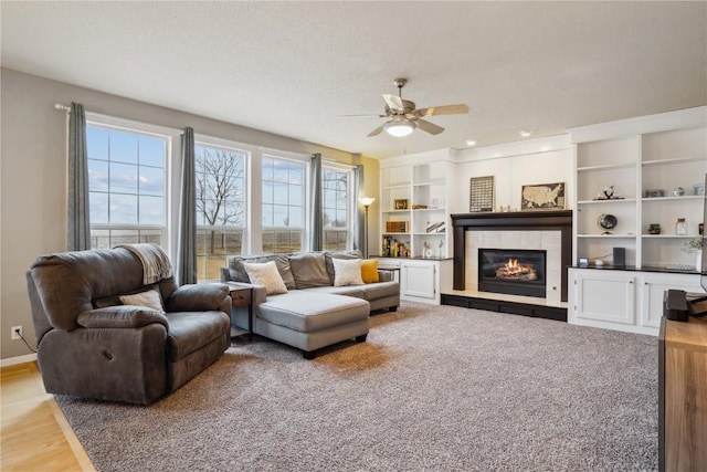
<svg viewBox="0 0 707 472">
<path fill-rule="evenodd" d="M 177 276 L 180 285 L 197 283 L 197 177 L 194 130 L 181 135 L 181 192 Z"/>
</svg>

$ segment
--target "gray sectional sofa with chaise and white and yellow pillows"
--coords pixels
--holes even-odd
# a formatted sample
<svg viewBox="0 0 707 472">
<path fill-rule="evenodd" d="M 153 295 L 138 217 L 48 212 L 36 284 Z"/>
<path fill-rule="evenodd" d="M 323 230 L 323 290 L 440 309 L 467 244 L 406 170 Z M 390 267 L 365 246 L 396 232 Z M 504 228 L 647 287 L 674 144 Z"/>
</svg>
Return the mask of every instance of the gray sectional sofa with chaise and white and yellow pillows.
<svg viewBox="0 0 707 472">
<path fill-rule="evenodd" d="M 221 282 L 252 289 L 253 333 L 310 359 L 323 347 L 366 340 L 369 314 L 398 308 L 400 285 L 377 262 L 360 251 L 234 256 Z M 234 307 L 232 323 L 246 328 L 247 308 Z"/>
</svg>

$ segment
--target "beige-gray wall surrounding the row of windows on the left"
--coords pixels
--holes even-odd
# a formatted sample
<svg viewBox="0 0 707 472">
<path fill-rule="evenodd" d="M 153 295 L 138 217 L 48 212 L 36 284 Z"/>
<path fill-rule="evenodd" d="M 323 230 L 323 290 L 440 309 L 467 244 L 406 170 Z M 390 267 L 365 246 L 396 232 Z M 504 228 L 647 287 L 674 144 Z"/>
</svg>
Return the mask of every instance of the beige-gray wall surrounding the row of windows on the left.
<svg viewBox="0 0 707 472">
<path fill-rule="evenodd" d="M 325 158 L 366 166 L 366 195 L 379 193 L 378 160 L 149 105 L 8 69 L 0 70 L 0 359 L 31 352 L 10 340 L 22 325 L 30 344 L 34 328 L 24 282 L 32 261 L 66 249 L 66 119 L 55 103 L 82 103 L 86 111 L 292 153 L 321 153 Z M 378 207 L 371 208 L 377 214 Z M 370 234 L 378 234 L 371 217 Z M 372 238 L 376 241 L 376 238 Z M 4 363 L 8 364 L 8 363 Z"/>
</svg>

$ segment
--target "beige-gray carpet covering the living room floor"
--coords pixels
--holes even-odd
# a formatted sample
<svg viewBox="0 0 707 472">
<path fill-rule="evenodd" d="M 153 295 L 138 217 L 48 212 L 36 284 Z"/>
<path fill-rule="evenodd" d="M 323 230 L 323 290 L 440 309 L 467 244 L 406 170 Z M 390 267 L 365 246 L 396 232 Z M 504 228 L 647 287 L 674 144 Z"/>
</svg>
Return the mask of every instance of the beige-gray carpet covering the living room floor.
<svg viewBox="0 0 707 472">
<path fill-rule="evenodd" d="M 101 471 L 657 469 L 657 339 L 404 303 L 315 360 L 241 342 L 150 407 L 57 397 Z"/>
</svg>

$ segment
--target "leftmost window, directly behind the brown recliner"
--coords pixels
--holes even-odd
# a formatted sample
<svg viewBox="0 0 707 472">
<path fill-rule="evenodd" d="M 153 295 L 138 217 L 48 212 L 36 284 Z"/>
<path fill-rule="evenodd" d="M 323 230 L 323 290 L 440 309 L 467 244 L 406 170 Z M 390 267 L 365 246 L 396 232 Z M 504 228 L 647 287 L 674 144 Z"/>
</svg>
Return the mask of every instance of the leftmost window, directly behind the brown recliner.
<svg viewBox="0 0 707 472">
<path fill-rule="evenodd" d="M 91 247 L 165 245 L 169 137 L 86 126 Z"/>
</svg>

